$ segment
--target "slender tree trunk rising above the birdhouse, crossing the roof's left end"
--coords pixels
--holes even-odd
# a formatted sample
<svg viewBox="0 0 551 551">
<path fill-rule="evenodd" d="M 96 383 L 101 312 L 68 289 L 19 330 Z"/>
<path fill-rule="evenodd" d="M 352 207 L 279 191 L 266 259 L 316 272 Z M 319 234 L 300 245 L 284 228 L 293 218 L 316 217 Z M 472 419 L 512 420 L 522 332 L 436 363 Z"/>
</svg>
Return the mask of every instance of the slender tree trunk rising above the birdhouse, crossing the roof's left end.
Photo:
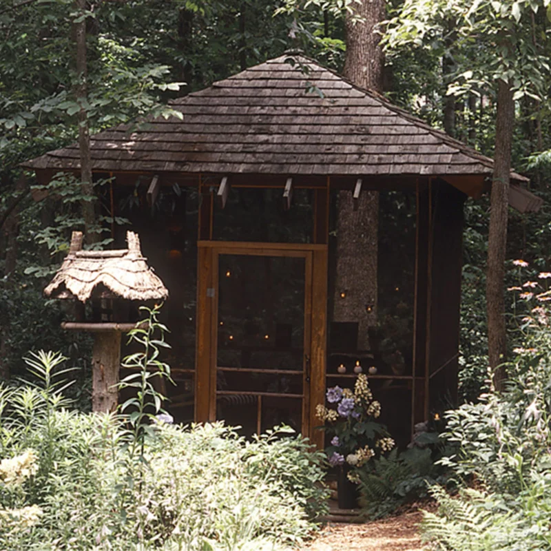
<svg viewBox="0 0 551 551">
<path fill-rule="evenodd" d="M 86 10 L 86 0 L 76 0 L 76 12 L 79 16 Z M 80 103 L 79 111 L 79 152 L 81 158 L 81 185 L 83 194 L 93 196 L 94 186 L 92 184 L 92 158 L 90 156 L 90 127 L 88 125 L 88 116 L 85 103 L 87 100 L 87 63 L 86 63 L 86 18 L 74 23 L 74 34 L 76 41 L 76 75 L 78 83 L 76 85 L 76 101 Z M 85 226 L 85 236 L 88 242 L 96 242 L 99 236 L 92 233 L 94 226 L 94 202 L 90 200 L 82 201 L 82 211 Z"/>
</svg>

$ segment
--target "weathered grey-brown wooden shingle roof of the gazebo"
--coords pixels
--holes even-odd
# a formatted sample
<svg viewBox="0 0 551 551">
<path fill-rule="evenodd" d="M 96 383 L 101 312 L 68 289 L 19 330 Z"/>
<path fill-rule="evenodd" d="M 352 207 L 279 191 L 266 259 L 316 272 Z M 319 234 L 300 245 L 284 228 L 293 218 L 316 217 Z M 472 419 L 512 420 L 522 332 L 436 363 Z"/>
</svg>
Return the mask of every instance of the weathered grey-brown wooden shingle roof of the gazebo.
<svg viewBox="0 0 551 551">
<path fill-rule="evenodd" d="M 172 103 L 183 113 L 92 137 L 94 171 L 287 175 L 492 173 L 492 159 L 311 59 L 280 56 Z M 312 85 L 322 92 L 307 92 Z M 25 163 L 79 168 L 77 145 Z M 515 180 L 526 180 L 512 174 Z"/>
</svg>

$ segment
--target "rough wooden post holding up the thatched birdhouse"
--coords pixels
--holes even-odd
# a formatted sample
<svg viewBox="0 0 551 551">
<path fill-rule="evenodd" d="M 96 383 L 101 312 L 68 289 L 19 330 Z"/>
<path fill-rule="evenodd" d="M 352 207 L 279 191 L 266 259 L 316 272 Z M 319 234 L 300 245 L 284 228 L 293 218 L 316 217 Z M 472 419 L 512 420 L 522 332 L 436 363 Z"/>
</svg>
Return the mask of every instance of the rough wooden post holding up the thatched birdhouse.
<svg viewBox="0 0 551 551">
<path fill-rule="evenodd" d="M 96 333 L 92 351 L 92 411 L 112 413 L 116 410 L 120 365 L 121 332 Z"/>
</svg>

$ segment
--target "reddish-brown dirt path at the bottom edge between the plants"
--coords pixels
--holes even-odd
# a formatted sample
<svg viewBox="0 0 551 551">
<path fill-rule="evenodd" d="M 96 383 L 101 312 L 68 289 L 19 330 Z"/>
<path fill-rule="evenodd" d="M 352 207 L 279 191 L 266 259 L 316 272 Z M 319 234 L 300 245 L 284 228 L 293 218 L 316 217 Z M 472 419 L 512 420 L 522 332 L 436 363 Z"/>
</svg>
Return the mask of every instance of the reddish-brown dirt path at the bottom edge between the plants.
<svg viewBox="0 0 551 551">
<path fill-rule="evenodd" d="M 365 524 L 329 523 L 302 551 L 421 551 L 420 512 Z"/>
</svg>

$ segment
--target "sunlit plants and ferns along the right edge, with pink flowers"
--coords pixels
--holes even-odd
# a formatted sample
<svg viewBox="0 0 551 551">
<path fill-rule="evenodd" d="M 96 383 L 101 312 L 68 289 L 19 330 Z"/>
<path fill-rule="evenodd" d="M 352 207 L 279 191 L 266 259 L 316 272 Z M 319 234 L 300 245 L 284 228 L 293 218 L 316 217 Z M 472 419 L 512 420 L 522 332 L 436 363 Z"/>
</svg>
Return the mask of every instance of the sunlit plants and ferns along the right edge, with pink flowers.
<svg viewBox="0 0 551 551">
<path fill-rule="evenodd" d="M 551 273 L 531 276 L 510 288 L 519 344 L 505 390 L 490 377 L 479 402 L 446 414 L 445 437 L 459 452 L 443 462 L 477 491 L 451 499 L 433 488 L 440 508 L 425 515 L 424 534 L 439 550 L 551 548 Z"/>
</svg>

